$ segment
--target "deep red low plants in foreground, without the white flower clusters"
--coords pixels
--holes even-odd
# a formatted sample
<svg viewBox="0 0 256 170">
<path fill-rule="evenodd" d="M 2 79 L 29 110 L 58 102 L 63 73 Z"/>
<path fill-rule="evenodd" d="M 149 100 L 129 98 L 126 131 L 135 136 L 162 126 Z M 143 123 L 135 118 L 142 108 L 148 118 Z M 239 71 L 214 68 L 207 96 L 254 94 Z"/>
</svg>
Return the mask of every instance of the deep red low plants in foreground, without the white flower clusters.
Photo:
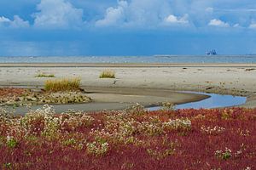
<svg viewBox="0 0 256 170">
<path fill-rule="evenodd" d="M 18 144 L 6 144 L 8 124 L 0 124 L 0 167 L 3 169 L 256 169 L 256 109 L 152 111 L 134 114 L 136 122 L 160 122 L 189 118 L 191 128 L 166 128 L 162 133 L 132 133 L 139 142 L 106 139 L 109 150 L 102 156 L 88 153 L 86 144 L 96 139 L 91 129 L 105 128 L 107 117 L 117 112 L 91 114 L 90 124 L 64 123 L 54 138 L 39 134 L 17 136 Z M 59 117 L 59 116 L 57 116 Z M 62 117 L 64 119 L 65 116 Z M 42 129 L 43 119 L 32 123 Z M 112 120 L 113 121 L 113 120 Z M 113 121 L 114 122 L 114 121 Z M 153 122 L 153 121 L 152 121 Z M 117 122 L 118 124 L 118 122 Z M 21 137 L 20 137 L 21 136 Z M 1 140 L 2 138 L 2 140 Z M 67 139 L 74 139 L 68 140 Z M 104 138 L 103 138 L 104 139 Z M 225 151 L 225 150 L 231 150 Z M 222 150 L 221 154 L 216 154 Z"/>
</svg>

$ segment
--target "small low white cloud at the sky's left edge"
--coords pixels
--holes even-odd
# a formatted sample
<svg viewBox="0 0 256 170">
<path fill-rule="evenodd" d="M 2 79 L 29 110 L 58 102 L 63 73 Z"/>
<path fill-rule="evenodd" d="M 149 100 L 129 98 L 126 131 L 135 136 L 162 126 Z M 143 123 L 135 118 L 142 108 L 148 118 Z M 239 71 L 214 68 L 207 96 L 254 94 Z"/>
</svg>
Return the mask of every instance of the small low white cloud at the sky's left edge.
<svg viewBox="0 0 256 170">
<path fill-rule="evenodd" d="M 8 18 L 2 16 L 0 17 L 0 25 L 13 28 L 26 28 L 29 27 L 29 22 L 26 20 L 22 20 L 18 15 L 14 16 L 14 20 L 9 20 Z"/>
</svg>

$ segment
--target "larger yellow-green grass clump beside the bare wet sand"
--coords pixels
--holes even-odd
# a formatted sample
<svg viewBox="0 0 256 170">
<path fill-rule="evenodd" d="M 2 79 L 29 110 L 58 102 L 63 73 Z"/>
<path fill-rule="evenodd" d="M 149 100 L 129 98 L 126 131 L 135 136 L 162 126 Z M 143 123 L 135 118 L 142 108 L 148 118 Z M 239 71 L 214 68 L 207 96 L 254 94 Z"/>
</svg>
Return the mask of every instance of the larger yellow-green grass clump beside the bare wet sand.
<svg viewBox="0 0 256 170">
<path fill-rule="evenodd" d="M 50 92 L 78 91 L 80 90 L 80 82 L 81 79 L 78 77 L 47 80 L 44 82 L 44 90 Z"/>
</svg>

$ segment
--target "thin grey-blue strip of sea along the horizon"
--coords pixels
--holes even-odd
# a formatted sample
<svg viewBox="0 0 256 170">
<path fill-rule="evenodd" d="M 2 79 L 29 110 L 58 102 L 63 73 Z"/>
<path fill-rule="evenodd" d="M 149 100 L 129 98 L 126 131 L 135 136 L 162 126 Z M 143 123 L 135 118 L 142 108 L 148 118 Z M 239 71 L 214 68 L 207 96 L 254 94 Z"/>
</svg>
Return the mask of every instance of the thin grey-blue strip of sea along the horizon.
<svg viewBox="0 0 256 170">
<path fill-rule="evenodd" d="M 255 64 L 255 55 L 154 55 L 154 56 L 20 56 L 1 57 L 0 63 L 231 63 Z"/>
</svg>

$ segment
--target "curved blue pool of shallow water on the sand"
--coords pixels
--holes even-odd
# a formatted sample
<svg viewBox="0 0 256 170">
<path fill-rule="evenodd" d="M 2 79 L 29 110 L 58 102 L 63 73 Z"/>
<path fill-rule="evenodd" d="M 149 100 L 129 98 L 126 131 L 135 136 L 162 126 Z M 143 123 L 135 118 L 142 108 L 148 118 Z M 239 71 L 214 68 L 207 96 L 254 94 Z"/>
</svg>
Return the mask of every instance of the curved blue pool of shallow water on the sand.
<svg viewBox="0 0 256 170">
<path fill-rule="evenodd" d="M 186 92 L 188 93 L 188 92 Z M 193 94 L 206 94 L 206 93 L 194 93 Z M 212 109 L 212 108 L 219 108 L 219 107 L 230 107 L 236 105 L 242 105 L 247 101 L 246 97 L 241 96 L 232 96 L 232 95 L 222 95 L 222 94 L 206 94 L 211 96 L 208 99 L 203 99 L 198 102 L 191 102 L 187 104 L 177 105 L 176 109 Z M 150 111 L 157 111 L 160 110 L 162 107 L 149 107 Z"/>
</svg>

